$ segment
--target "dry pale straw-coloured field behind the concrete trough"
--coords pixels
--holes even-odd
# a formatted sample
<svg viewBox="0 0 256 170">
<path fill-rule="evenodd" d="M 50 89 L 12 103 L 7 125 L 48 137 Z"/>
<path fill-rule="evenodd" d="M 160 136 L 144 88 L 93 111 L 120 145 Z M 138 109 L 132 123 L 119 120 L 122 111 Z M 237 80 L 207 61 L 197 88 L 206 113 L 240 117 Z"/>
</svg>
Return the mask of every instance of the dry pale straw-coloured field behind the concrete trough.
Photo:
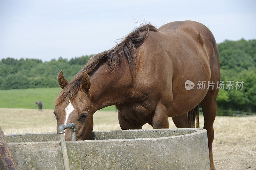
<svg viewBox="0 0 256 170">
<path fill-rule="evenodd" d="M 116 112 L 98 111 L 93 130 L 120 129 Z M 200 128 L 204 118 L 200 115 Z M 5 134 L 55 132 L 52 110 L 0 108 L 0 126 Z M 150 125 L 143 129 L 152 128 Z M 169 119 L 169 128 L 176 128 Z M 217 169 L 256 169 L 256 117 L 217 116 L 214 122 L 213 158 Z"/>
</svg>

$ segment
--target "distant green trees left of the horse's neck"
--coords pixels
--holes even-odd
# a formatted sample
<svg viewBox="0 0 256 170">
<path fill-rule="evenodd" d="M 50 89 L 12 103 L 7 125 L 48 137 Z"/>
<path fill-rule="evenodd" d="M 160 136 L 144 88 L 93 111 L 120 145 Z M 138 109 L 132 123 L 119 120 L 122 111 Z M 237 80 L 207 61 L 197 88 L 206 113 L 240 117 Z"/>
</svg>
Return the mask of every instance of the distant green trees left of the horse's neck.
<svg viewBox="0 0 256 170">
<path fill-rule="evenodd" d="M 59 87 L 57 75 L 63 70 L 68 80 L 88 62 L 92 55 L 42 62 L 39 59 L 6 58 L 0 61 L 0 89 Z"/>
</svg>

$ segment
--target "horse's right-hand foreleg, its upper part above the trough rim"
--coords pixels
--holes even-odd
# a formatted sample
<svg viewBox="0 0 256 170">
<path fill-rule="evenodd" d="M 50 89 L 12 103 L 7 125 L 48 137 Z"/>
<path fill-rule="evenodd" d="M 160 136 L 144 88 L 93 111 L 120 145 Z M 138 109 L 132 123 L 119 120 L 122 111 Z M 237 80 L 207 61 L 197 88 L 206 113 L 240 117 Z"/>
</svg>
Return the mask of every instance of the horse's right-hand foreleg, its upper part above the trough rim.
<svg viewBox="0 0 256 170">
<path fill-rule="evenodd" d="M 166 111 L 166 107 L 162 103 L 159 102 L 156 105 L 156 110 L 151 123 L 151 126 L 154 129 L 169 128 L 169 120 Z"/>
</svg>

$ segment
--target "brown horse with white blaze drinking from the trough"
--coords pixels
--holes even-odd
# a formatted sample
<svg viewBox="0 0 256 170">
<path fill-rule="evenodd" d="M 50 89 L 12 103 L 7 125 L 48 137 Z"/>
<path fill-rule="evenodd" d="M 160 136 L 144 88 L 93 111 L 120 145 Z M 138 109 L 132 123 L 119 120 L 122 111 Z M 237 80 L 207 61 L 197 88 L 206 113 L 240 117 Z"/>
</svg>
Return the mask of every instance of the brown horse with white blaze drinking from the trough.
<svg viewBox="0 0 256 170">
<path fill-rule="evenodd" d="M 219 90 L 216 84 L 186 90 L 187 80 L 196 85 L 220 81 L 218 46 L 211 31 L 195 21 L 171 22 L 158 29 L 142 25 L 112 49 L 93 56 L 70 82 L 60 71 L 63 90 L 54 110 L 57 131 L 60 124 L 74 122 L 77 140 L 87 140 L 92 115 L 110 105 L 118 109 L 122 129 L 141 129 L 146 123 L 168 128 L 168 117 L 177 128 L 194 127 L 201 103 L 214 169 L 213 122 Z M 71 140 L 70 131 L 65 138 Z"/>
</svg>

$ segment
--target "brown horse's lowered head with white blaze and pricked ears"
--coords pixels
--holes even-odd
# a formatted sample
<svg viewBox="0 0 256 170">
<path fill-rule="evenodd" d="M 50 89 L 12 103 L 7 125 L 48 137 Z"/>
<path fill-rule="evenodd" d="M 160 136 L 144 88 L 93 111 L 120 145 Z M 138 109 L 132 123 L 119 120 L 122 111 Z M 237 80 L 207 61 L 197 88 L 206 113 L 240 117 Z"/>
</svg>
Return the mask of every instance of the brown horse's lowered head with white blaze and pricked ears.
<svg viewBox="0 0 256 170">
<path fill-rule="evenodd" d="M 62 71 L 58 74 L 58 82 L 62 91 L 56 100 L 54 114 L 58 127 L 61 124 L 73 122 L 76 124 L 76 140 L 87 140 L 92 134 L 93 129 L 93 113 L 90 95 L 90 77 L 87 73 L 82 72 L 82 80 L 77 87 L 76 92 L 70 89 L 67 79 Z M 74 92 L 74 94 L 72 94 Z M 65 130 L 65 139 L 71 140 L 71 131 Z M 60 135 L 58 135 L 60 140 Z"/>
</svg>

